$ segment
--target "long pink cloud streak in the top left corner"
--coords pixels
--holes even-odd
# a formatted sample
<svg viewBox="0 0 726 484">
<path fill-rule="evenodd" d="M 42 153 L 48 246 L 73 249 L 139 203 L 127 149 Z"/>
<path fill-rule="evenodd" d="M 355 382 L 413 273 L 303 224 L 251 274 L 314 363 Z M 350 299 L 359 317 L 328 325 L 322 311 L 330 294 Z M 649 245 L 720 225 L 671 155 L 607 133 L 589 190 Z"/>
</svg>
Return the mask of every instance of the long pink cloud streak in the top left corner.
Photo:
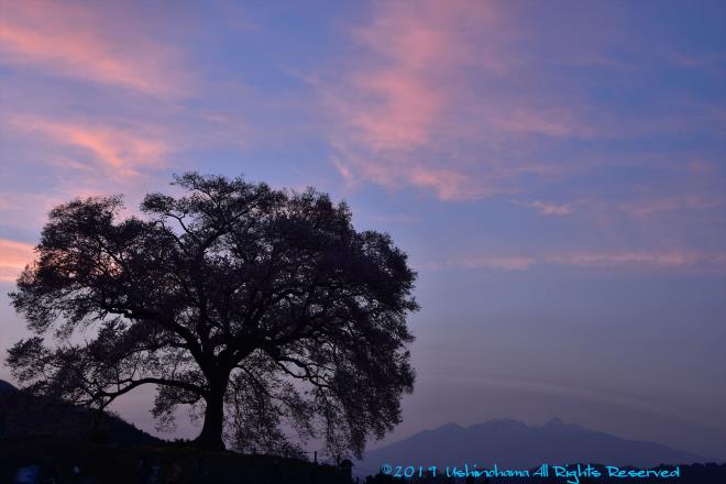
<svg viewBox="0 0 726 484">
<path fill-rule="evenodd" d="M 1 3 L 0 58 L 7 62 L 155 96 L 189 87 L 177 51 L 140 31 L 112 35 L 113 25 L 134 25 L 119 22 L 120 12 L 67 2 Z"/>
</svg>

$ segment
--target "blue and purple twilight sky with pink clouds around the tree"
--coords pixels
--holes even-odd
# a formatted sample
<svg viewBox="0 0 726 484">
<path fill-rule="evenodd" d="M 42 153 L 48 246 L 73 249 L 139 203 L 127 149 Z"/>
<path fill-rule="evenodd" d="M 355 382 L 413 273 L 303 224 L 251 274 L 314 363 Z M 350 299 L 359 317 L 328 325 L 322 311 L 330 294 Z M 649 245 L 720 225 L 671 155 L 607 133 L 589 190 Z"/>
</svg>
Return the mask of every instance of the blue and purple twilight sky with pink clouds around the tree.
<svg viewBox="0 0 726 484">
<path fill-rule="evenodd" d="M 54 205 L 244 175 L 345 200 L 418 272 L 416 388 L 373 447 L 559 417 L 726 460 L 724 25 L 705 0 L 0 0 L 0 348 Z M 154 431 L 151 398 L 116 410 Z"/>
</svg>

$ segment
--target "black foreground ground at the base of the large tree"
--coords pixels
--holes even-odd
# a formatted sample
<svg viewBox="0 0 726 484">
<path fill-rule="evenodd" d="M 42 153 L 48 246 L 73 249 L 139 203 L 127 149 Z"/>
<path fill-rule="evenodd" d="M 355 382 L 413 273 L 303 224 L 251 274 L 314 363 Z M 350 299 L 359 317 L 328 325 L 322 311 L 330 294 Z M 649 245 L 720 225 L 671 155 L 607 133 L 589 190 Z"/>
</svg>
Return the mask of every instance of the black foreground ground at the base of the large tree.
<svg viewBox="0 0 726 484">
<path fill-rule="evenodd" d="M 15 437 L 0 439 L 0 482 L 12 482 L 14 472 L 37 464 L 44 475 L 55 472 L 61 482 L 74 481 L 73 468 L 102 484 L 138 482 L 141 460 L 157 466 L 162 483 L 177 468 L 179 484 L 350 484 L 345 473 L 330 465 L 316 465 L 297 459 L 273 455 L 243 455 L 237 452 L 207 452 L 161 443 L 124 446 L 90 443 L 59 437 Z M 82 482 L 82 481 L 81 481 Z"/>
</svg>

